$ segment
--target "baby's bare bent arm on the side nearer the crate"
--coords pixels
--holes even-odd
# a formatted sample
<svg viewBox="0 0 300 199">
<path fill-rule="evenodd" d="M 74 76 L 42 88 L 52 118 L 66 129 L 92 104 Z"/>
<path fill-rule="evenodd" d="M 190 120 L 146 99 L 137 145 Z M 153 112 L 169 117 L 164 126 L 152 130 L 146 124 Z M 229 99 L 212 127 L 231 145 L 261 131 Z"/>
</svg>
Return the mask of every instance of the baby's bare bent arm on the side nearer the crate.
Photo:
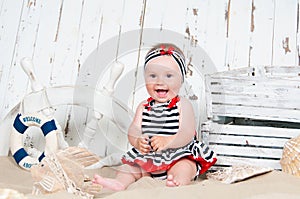
<svg viewBox="0 0 300 199">
<path fill-rule="evenodd" d="M 195 136 L 195 116 L 193 106 L 188 99 L 181 97 L 179 107 L 179 129 L 176 135 L 154 136 L 151 144 L 154 150 L 179 148 L 187 145 Z"/>
</svg>

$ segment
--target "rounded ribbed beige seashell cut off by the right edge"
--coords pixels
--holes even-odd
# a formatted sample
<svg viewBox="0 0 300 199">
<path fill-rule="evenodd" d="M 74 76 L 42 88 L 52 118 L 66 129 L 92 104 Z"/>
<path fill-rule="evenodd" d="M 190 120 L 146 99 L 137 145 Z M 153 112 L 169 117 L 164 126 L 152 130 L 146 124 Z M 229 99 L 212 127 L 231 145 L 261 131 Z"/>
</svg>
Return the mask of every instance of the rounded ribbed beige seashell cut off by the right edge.
<svg viewBox="0 0 300 199">
<path fill-rule="evenodd" d="M 300 177 L 300 136 L 284 144 L 280 165 L 282 171 Z"/>
</svg>

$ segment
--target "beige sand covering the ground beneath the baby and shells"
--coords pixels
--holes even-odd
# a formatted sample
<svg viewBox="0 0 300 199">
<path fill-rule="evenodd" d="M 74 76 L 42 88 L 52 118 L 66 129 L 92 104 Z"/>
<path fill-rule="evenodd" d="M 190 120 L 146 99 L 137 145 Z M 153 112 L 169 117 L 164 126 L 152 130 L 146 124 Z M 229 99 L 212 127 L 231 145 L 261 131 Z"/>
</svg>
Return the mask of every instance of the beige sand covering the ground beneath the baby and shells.
<svg viewBox="0 0 300 199">
<path fill-rule="evenodd" d="M 23 193 L 28 199 L 80 198 L 67 192 L 48 195 L 31 195 L 32 178 L 28 171 L 19 168 L 11 157 L 0 157 L 0 189 L 10 188 Z M 88 175 L 97 172 L 114 176 L 112 168 L 89 170 Z M 143 177 L 121 192 L 102 192 L 95 198 L 209 198 L 209 199 L 299 199 L 300 178 L 281 171 L 272 171 L 234 184 L 202 178 L 188 186 L 165 187 L 165 181 Z M 1 195 L 0 195 L 1 198 Z"/>
</svg>

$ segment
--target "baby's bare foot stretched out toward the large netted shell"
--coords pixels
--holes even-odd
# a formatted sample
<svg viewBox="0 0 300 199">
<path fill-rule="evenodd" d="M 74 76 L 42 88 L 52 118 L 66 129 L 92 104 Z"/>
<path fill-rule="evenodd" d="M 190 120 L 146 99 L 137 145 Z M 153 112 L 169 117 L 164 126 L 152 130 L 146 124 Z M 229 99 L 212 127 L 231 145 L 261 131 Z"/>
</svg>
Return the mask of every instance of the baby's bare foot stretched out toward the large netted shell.
<svg viewBox="0 0 300 199">
<path fill-rule="evenodd" d="M 100 175 L 95 174 L 94 179 L 92 180 L 95 184 L 100 184 L 104 189 L 112 191 L 122 191 L 125 190 L 125 186 L 119 181 L 112 178 L 104 178 Z"/>
</svg>

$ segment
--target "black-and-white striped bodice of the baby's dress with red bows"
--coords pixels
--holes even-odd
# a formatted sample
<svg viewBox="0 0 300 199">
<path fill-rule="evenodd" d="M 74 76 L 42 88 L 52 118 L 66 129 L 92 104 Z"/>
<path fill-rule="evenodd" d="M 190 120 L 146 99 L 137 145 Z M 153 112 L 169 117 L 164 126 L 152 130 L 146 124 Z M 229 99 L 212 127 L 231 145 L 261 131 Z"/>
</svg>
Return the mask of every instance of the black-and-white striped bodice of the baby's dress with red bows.
<svg viewBox="0 0 300 199">
<path fill-rule="evenodd" d="M 143 110 L 142 132 L 149 137 L 154 135 L 174 135 L 179 128 L 179 111 L 177 102 L 169 107 L 170 102 L 155 104 L 148 103 Z"/>
</svg>

